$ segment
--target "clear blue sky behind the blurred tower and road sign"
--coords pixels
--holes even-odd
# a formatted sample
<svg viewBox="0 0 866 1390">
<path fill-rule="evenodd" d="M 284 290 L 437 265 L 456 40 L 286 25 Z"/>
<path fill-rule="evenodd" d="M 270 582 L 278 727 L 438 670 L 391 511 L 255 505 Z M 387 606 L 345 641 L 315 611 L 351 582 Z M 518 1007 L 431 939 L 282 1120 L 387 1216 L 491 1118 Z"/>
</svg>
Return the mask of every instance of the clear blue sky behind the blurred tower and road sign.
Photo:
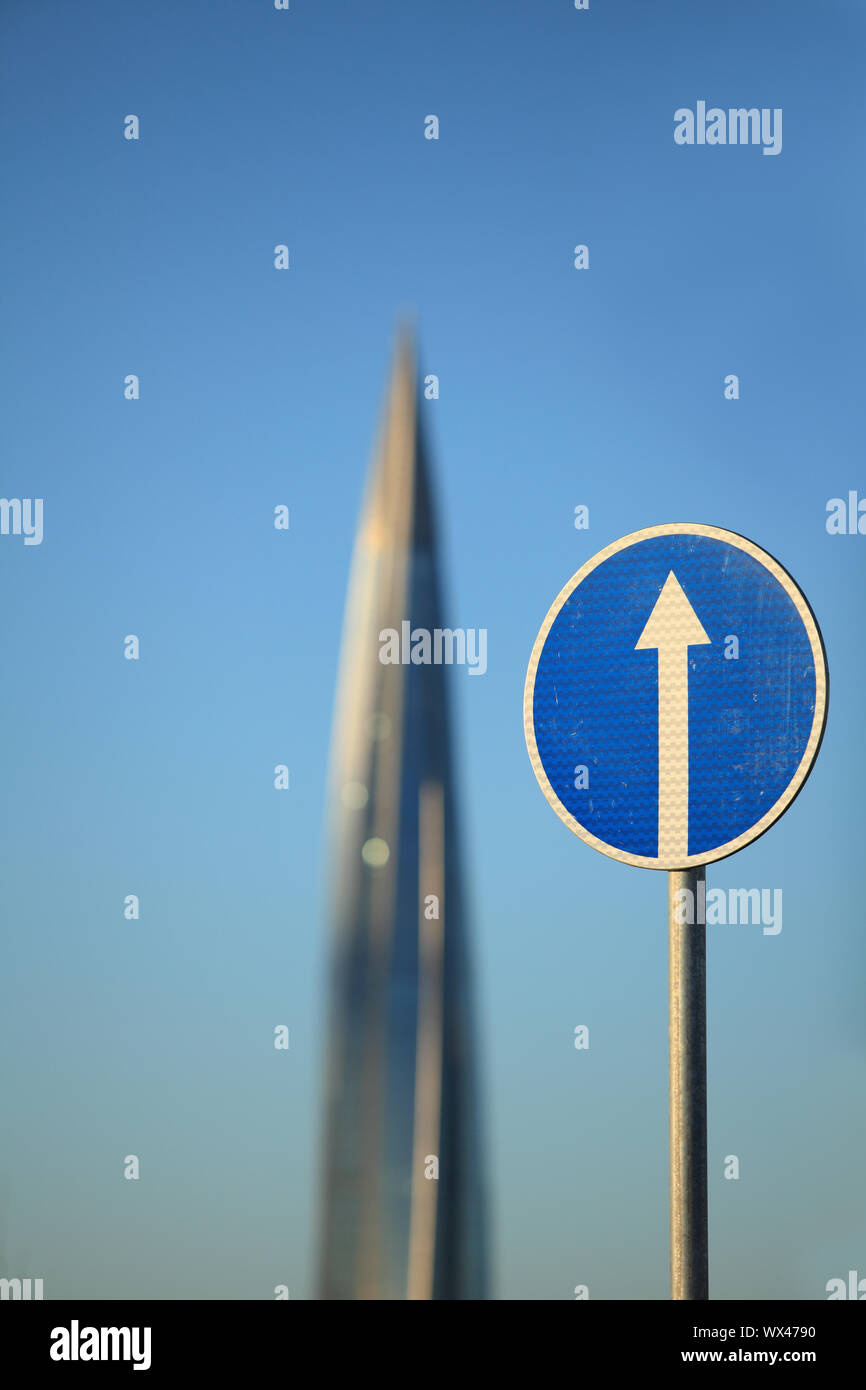
<svg viewBox="0 0 866 1390">
<path fill-rule="evenodd" d="M 866 1276 L 866 535 L 826 530 L 866 496 L 865 29 L 840 0 L 6 0 L 1 491 L 44 513 L 0 537 L 3 1272 L 313 1293 L 338 642 L 414 307 L 449 614 L 488 630 L 453 692 L 496 1293 L 667 1297 L 664 876 L 555 817 L 523 684 L 584 560 L 681 520 L 794 574 L 831 684 L 801 796 L 708 872 L 784 894 L 776 935 L 708 929 L 710 1291 Z M 676 145 L 698 101 L 781 108 L 781 152 Z"/>
</svg>

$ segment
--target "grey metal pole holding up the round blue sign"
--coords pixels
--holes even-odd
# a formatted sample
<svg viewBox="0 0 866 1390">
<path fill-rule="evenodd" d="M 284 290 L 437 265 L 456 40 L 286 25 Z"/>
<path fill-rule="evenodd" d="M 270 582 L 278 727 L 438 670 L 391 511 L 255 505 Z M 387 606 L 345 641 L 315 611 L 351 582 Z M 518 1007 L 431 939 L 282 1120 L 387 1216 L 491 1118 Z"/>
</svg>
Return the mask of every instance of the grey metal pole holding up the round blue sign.
<svg viewBox="0 0 866 1390">
<path fill-rule="evenodd" d="M 691 892 L 694 923 L 677 922 Z M 670 1297 L 709 1298 L 706 1225 L 706 870 L 667 874 Z"/>
</svg>

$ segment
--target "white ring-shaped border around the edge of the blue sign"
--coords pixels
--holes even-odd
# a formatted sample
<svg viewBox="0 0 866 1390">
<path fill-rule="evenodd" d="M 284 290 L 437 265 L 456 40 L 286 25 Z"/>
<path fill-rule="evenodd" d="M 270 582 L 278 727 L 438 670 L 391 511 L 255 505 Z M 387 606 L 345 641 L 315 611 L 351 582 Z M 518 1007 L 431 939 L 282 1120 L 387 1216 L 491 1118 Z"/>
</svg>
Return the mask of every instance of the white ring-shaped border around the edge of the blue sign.
<svg viewBox="0 0 866 1390">
<path fill-rule="evenodd" d="M 745 550 L 745 553 L 751 555 L 753 560 L 763 564 L 773 578 L 778 580 L 783 589 L 794 603 L 794 607 L 799 613 L 809 637 L 812 659 L 815 662 L 815 719 L 812 720 L 812 730 L 806 741 L 803 756 L 799 760 L 799 766 L 778 801 L 770 806 L 760 820 L 758 820 L 751 830 L 746 830 L 742 835 L 737 835 L 735 840 L 728 840 L 727 844 L 719 845 L 717 849 L 713 849 L 709 853 L 689 855 L 677 863 L 670 863 L 666 859 L 657 859 L 648 855 L 631 855 L 624 849 L 614 849 L 613 845 L 607 845 L 603 840 L 599 840 L 596 835 L 592 835 L 588 830 L 585 830 L 584 826 L 574 819 L 571 812 L 566 809 L 548 780 L 548 774 L 541 764 L 532 721 L 532 701 L 535 694 L 535 673 L 538 670 L 538 662 L 541 659 L 541 652 L 548 638 L 548 632 L 550 631 L 566 599 L 571 596 L 574 589 L 578 584 L 582 584 L 588 574 L 592 574 L 592 571 L 599 564 L 603 564 L 605 560 L 610 559 L 612 555 L 616 555 L 619 550 L 626 550 L 630 546 L 637 545 L 639 541 L 649 541 L 657 535 L 706 535 L 716 541 L 726 541 L 738 550 Z M 745 845 L 749 845 L 753 840 L 758 840 L 759 835 L 763 835 L 763 833 L 769 830 L 776 820 L 778 820 L 783 812 L 788 809 L 809 776 L 812 764 L 817 756 L 822 738 L 824 737 L 824 726 L 827 723 L 827 657 L 819 626 L 805 596 L 801 594 L 799 588 L 778 560 L 774 560 L 771 555 L 762 550 L 753 541 L 748 541 L 744 535 L 738 535 L 735 531 L 724 531 L 721 527 L 703 525 L 698 521 L 667 521 L 664 525 L 651 525 L 645 527 L 642 531 L 631 531 L 630 535 L 624 535 L 619 541 L 613 541 L 610 545 L 605 546 L 603 550 L 599 550 L 598 555 L 594 555 L 591 560 L 587 560 L 577 574 L 573 574 L 566 587 L 556 595 L 548 610 L 548 616 L 541 624 L 541 631 L 535 638 L 535 645 L 530 657 L 530 667 L 527 670 L 523 695 L 523 727 L 527 748 L 530 751 L 530 762 L 532 763 L 532 771 L 538 778 L 538 785 L 544 791 L 559 819 L 564 821 L 569 830 L 574 831 L 575 835 L 585 841 L 585 844 L 592 845 L 594 849 L 607 855 L 610 859 L 619 859 L 620 863 L 635 865 L 639 869 L 695 869 L 698 865 L 709 865 L 716 859 L 726 859 L 728 855 L 733 855 Z"/>
</svg>

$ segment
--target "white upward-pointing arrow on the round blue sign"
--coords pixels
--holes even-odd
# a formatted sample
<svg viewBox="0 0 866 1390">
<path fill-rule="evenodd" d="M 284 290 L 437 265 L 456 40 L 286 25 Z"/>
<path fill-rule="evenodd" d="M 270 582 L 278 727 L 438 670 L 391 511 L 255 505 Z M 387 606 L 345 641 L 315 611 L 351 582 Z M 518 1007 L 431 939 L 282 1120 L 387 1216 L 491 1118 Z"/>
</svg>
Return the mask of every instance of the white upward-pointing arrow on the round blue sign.
<svg viewBox="0 0 866 1390">
<path fill-rule="evenodd" d="M 635 652 L 659 652 L 659 859 L 688 859 L 688 649 L 709 642 L 671 570 Z"/>
</svg>

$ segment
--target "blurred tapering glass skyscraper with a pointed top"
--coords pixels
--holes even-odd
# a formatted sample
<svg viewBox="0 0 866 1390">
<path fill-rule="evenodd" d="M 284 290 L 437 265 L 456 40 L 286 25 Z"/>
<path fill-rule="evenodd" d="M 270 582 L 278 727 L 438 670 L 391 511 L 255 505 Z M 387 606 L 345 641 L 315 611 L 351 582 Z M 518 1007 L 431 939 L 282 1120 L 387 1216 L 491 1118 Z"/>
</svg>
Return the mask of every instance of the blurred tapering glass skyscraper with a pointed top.
<svg viewBox="0 0 866 1390">
<path fill-rule="evenodd" d="M 485 1298 L 460 827 L 414 348 L 398 341 L 346 605 L 331 766 L 334 942 L 322 1298 Z"/>
</svg>

